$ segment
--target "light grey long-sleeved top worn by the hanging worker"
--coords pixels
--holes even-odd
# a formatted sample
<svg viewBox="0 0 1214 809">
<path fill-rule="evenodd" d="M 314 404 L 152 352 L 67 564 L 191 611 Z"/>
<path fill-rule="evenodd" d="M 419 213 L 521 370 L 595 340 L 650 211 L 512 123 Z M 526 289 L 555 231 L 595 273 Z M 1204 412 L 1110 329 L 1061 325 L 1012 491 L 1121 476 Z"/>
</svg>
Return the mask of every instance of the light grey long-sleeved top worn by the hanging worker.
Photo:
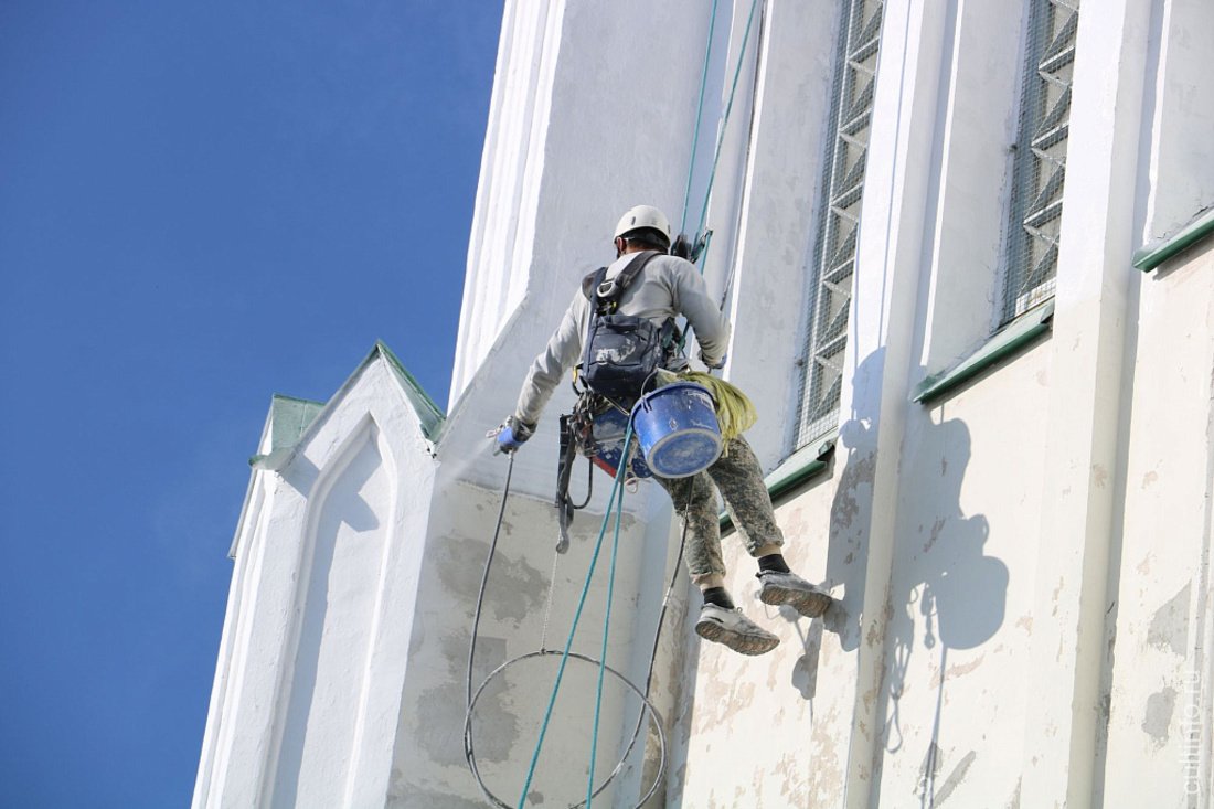
<svg viewBox="0 0 1214 809">
<path fill-rule="evenodd" d="M 614 278 L 632 260 L 623 255 L 607 268 L 607 278 Z M 641 273 L 624 290 L 619 300 L 619 313 L 646 317 L 662 326 L 669 317 L 682 315 L 696 330 L 700 357 L 715 366 L 725 357 L 730 341 L 730 323 L 708 295 L 708 287 L 699 271 L 688 261 L 673 255 L 659 255 L 649 261 Z M 565 311 L 561 324 L 548 341 L 548 347 L 535 357 L 527 380 L 518 394 L 515 418 L 524 424 L 535 424 L 539 414 L 551 398 L 565 372 L 582 358 L 582 340 L 590 317 L 590 301 L 582 289 Z"/>
</svg>

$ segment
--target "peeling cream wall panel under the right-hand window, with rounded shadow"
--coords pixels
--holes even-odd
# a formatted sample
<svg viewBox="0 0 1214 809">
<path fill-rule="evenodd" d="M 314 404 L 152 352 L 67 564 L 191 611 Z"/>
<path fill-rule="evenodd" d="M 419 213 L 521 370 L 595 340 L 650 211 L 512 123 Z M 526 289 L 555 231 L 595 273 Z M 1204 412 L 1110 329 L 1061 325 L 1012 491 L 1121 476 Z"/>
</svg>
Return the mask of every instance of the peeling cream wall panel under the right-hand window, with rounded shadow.
<svg viewBox="0 0 1214 809">
<path fill-rule="evenodd" d="M 1020 790 L 1031 695 L 1017 673 L 1031 667 L 1034 621 L 1056 609 L 1034 601 L 1048 394 L 1038 345 L 910 413 L 872 697 L 881 724 L 874 805 L 1003 807 Z"/>
</svg>

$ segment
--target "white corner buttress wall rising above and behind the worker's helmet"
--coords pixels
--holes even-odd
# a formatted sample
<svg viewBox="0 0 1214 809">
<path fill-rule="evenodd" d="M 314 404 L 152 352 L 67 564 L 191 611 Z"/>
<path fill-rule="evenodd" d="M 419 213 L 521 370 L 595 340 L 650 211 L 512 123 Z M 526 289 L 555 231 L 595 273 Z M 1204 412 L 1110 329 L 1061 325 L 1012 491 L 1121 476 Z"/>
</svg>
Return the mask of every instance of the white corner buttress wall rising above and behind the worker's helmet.
<svg viewBox="0 0 1214 809">
<path fill-rule="evenodd" d="M 494 364 L 509 362 L 521 384 L 582 276 L 614 258 L 623 211 L 643 202 L 679 220 L 709 9 L 622 0 L 605 11 L 563 0 L 506 4 L 453 413 L 478 373 L 494 373 L 484 364 L 490 355 L 507 355 Z"/>
</svg>

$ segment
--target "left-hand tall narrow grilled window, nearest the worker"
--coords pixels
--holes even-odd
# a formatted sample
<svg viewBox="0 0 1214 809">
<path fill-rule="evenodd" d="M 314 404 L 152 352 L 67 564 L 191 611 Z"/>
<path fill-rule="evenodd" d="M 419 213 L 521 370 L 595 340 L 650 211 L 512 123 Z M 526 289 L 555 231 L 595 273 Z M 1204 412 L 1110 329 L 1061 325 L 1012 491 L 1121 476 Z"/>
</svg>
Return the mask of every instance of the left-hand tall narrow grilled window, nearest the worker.
<svg viewBox="0 0 1214 809">
<path fill-rule="evenodd" d="M 794 449 L 839 424 L 883 0 L 844 0 Z"/>
</svg>

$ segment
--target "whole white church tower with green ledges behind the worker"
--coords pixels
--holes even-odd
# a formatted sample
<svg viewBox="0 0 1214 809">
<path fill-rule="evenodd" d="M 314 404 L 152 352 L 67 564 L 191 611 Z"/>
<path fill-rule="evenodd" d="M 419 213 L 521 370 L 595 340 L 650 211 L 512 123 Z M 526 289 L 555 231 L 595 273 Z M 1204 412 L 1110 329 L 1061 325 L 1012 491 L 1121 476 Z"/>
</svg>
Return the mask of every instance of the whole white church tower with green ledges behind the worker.
<svg viewBox="0 0 1214 809">
<path fill-rule="evenodd" d="M 507 0 L 447 413 L 384 345 L 273 400 L 194 807 L 580 805 L 594 743 L 603 807 L 1209 809 L 1212 53 L 1208 0 Z M 836 601 L 765 607 L 726 533 L 782 643 L 700 643 L 641 483 L 537 754 L 611 481 L 558 555 L 572 392 L 484 434 L 639 203 L 711 231 Z"/>
</svg>

